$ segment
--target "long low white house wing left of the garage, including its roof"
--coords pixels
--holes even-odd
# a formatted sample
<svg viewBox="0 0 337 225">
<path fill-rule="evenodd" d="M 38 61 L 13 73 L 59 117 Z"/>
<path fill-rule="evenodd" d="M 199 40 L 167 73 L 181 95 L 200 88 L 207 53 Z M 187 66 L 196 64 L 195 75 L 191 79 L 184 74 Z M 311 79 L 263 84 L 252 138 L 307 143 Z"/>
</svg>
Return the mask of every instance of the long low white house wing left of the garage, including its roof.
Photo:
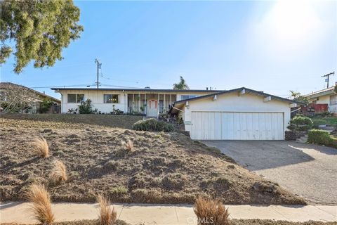
<svg viewBox="0 0 337 225">
<path fill-rule="evenodd" d="M 113 109 L 124 113 L 142 113 L 148 117 L 157 117 L 167 113 L 174 101 L 212 94 L 216 90 L 174 90 L 174 89 L 83 89 L 52 88 L 61 94 L 62 113 L 78 108 L 81 101 L 91 99 L 93 109 L 101 113 L 110 113 Z"/>
</svg>

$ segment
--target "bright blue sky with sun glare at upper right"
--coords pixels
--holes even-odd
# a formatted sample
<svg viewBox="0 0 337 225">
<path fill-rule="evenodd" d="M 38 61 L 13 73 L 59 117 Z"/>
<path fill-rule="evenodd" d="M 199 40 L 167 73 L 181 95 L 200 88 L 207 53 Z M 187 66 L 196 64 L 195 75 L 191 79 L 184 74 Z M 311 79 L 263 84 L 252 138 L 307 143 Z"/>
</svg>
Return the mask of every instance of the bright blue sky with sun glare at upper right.
<svg viewBox="0 0 337 225">
<path fill-rule="evenodd" d="M 245 86 L 287 97 L 324 89 L 337 70 L 337 1 L 74 1 L 81 38 L 51 68 L 29 64 L 1 82 L 60 98 L 51 86 L 190 89 Z M 330 84 L 337 82 L 336 75 Z"/>
</svg>

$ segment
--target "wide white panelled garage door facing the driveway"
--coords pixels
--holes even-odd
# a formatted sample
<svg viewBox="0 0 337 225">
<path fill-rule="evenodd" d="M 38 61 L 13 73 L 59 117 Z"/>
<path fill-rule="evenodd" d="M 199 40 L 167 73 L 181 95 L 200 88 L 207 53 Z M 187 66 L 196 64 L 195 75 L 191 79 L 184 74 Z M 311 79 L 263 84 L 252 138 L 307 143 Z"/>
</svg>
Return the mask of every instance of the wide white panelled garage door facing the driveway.
<svg viewBox="0 0 337 225">
<path fill-rule="evenodd" d="M 283 113 L 192 112 L 197 140 L 283 140 Z"/>
</svg>

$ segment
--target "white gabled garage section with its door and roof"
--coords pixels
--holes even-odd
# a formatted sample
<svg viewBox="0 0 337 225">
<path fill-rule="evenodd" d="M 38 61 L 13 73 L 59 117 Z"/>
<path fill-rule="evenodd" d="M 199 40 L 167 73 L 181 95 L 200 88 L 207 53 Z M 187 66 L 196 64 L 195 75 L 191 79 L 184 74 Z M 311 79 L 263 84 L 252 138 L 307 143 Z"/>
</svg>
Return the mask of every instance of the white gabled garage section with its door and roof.
<svg viewBox="0 0 337 225">
<path fill-rule="evenodd" d="M 291 108 L 302 103 L 245 87 L 173 103 L 197 140 L 284 140 Z"/>
</svg>

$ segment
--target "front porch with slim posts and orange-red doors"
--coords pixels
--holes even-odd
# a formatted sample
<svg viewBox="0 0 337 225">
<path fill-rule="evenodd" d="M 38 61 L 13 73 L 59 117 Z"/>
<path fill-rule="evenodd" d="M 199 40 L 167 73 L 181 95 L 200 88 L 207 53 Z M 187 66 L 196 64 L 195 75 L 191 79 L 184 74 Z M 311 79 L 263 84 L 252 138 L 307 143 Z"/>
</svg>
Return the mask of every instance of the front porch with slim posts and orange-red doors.
<svg viewBox="0 0 337 225">
<path fill-rule="evenodd" d="M 147 117 L 158 117 L 160 113 L 167 113 L 176 94 L 128 94 L 128 113 L 143 113 Z"/>
</svg>

